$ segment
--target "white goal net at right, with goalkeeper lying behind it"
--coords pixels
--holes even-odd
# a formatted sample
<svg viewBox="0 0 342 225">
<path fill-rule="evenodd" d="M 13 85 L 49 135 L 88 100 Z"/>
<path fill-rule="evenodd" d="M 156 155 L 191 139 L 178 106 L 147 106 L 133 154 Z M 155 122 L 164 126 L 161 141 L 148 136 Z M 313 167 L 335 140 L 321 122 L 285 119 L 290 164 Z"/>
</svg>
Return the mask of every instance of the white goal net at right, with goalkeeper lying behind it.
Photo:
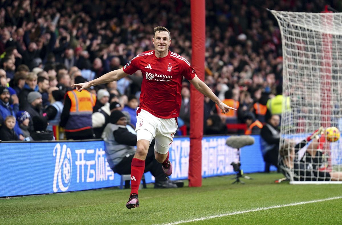
<svg viewBox="0 0 342 225">
<path fill-rule="evenodd" d="M 292 184 L 342 183 L 329 182 L 332 175 L 342 180 L 340 140 L 328 142 L 322 133 L 292 153 L 320 127 L 342 131 L 342 13 L 271 12 L 283 54 L 280 167 Z"/>
</svg>

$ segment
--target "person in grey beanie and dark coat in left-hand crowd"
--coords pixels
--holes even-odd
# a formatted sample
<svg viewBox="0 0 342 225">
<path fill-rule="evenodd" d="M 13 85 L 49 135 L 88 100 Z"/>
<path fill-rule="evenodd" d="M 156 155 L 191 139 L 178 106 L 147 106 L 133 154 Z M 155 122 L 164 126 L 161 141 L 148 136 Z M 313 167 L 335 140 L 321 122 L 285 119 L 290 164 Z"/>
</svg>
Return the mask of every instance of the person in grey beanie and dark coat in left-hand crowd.
<svg viewBox="0 0 342 225">
<path fill-rule="evenodd" d="M 31 91 L 27 95 L 28 105 L 23 109 L 30 114 L 30 122 L 28 123 L 28 130 L 30 132 L 34 131 L 32 118 L 35 116 L 43 116 L 42 111 L 42 95 L 38 91 Z"/>
</svg>

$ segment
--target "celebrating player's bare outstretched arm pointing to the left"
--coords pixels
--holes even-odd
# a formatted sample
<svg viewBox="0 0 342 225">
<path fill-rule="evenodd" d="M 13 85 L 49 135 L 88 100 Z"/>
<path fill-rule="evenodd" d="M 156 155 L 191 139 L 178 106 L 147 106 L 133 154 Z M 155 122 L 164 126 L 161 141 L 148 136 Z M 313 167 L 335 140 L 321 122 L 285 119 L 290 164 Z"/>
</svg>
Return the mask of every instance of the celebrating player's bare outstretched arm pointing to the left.
<svg viewBox="0 0 342 225">
<path fill-rule="evenodd" d="M 128 76 L 128 74 L 126 74 L 121 68 L 121 69 L 110 71 L 106 73 L 105 75 L 102 75 L 99 78 L 96 78 L 94 80 L 91 80 L 85 83 L 75 83 L 71 85 L 71 87 L 76 87 L 77 91 L 82 91 L 83 89 L 90 88 L 98 84 L 110 83 L 112 81 L 120 80 L 121 78 L 126 77 L 126 76 Z"/>
</svg>

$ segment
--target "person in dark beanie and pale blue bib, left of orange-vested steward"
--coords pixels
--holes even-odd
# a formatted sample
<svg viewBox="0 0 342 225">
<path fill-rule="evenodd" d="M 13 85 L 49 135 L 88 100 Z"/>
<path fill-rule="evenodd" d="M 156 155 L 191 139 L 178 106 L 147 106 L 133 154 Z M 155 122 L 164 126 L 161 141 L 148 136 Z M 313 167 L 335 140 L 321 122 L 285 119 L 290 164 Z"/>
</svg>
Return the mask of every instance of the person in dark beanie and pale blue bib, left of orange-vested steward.
<svg viewBox="0 0 342 225">
<path fill-rule="evenodd" d="M 48 118 L 48 130 L 53 130 L 53 126 L 58 126 L 61 122 L 61 114 L 63 111 L 63 100 L 65 93 L 58 90 L 57 87 L 49 88 L 50 105 L 45 109 L 46 117 Z"/>
</svg>

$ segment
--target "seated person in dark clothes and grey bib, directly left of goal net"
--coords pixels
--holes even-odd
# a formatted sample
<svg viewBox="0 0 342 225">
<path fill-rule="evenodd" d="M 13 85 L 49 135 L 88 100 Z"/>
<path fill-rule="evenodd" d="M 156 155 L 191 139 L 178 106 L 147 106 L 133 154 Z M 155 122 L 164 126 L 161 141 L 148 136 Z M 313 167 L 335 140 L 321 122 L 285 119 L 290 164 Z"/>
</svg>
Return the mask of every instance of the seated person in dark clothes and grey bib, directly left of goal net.
<svg viewBox="0 0 342 225">
<path fill-rule="evenodd" d="M 261 151 L 266 163 L 265 172 L 269 172 L 269 165 L 274 165 L 278 168 L 280 130 L 278 125 L 280 117 L 278 115 L 266 114 L 267 123 L 263 126 L 260 132 Z"/>
</svg>

